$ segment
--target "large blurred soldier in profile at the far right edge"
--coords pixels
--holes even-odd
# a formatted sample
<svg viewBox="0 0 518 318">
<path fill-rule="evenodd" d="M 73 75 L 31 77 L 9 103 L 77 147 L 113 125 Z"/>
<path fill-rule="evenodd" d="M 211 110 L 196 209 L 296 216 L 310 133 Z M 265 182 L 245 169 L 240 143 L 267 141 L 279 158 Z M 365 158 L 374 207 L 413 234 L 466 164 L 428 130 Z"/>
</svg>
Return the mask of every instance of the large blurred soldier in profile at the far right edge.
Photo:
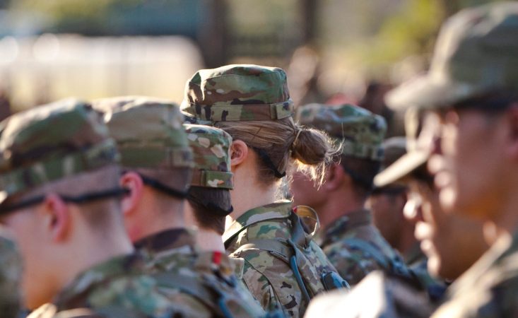
<svg viewBox="0 0 518 318">
<path fill-rule="evenodd" d="M 484 220 L 493 243 L 434 317 L 518 316 L 517 35 L 515 2 L 461 11 L 443 25 L 429 73 L 387 95 L 391 107 L 431 110 L 440 204 Z"/>
</svg>

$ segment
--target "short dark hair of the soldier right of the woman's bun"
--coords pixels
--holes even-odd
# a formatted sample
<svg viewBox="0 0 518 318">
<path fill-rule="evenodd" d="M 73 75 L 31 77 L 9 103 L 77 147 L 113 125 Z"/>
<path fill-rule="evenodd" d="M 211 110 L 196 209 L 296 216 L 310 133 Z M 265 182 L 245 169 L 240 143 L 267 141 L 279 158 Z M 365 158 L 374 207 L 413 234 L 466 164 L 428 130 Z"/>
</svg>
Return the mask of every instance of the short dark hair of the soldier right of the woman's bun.
<svg viewBox="0 0 518 318">
<path fill-rule="evenodd" d="M 374 177 L 381 168 L 381 161 L 340 155 L 340 165 L 353 180 L 356 194 L 366 199 L 374 187 Z"/>
</svg>

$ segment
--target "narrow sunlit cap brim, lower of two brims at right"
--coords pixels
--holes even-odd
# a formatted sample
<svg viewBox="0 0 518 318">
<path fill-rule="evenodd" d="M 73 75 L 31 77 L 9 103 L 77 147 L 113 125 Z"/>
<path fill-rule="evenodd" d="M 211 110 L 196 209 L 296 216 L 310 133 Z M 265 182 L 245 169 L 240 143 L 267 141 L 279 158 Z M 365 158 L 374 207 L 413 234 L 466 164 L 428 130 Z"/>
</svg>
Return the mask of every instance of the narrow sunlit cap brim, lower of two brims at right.
<svg viewBox="0 0 518 318">
<path fill-rule="evenodd" d="M 403 155 L 399 160 L 396 160 L 396 162 L 376 175 L 374 178 L 375 186 L 385 187 L 407 177 L 418 167 L 424 165 L 429 157 L 430 153 L 426 151 L 406 153 L 406 155 Z"/>
</svg>

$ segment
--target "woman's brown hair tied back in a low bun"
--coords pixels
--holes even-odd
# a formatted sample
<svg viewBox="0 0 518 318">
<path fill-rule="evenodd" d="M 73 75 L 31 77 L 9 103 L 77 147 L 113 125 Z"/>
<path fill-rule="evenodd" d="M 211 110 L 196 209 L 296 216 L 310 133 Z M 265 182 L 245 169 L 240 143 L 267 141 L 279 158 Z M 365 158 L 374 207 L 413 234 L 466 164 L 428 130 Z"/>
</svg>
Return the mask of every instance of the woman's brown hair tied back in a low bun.
<svg viewBox="0 0 518 318">
<path fill-rule="evenodd" d="M 322 183 L 326 165 L 336 153 L 329 137 L 317 129 L 299 126 L 292 118 L 276 121 L 216 122 L 214 126 L 228 132 L 233 139 L 244 141 L 252 149 L 261 149 L 280 173 L 290 163 Z M 278 180 L 265 160 L 258 160 L 259 182 L 270 185 Z"/>
</svg>

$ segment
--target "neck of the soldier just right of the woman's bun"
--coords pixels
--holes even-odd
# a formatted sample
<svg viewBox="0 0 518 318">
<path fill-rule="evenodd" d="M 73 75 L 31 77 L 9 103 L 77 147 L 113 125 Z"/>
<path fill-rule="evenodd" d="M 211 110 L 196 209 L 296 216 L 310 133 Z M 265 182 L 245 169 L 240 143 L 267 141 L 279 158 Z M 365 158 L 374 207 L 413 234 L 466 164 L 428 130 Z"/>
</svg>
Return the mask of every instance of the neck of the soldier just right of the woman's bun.
<svg viewBox="0 0 518 318">
<path fill-rule="evenodd" d="M 363 209 L 365 200 L 358 199 L 358 196 L 352 190 L 342 190 L 329 195 L 329 199 L 317 207 L 320 225 L 327 228 L 331 223 L 341 216 Z"/>
</svg>

